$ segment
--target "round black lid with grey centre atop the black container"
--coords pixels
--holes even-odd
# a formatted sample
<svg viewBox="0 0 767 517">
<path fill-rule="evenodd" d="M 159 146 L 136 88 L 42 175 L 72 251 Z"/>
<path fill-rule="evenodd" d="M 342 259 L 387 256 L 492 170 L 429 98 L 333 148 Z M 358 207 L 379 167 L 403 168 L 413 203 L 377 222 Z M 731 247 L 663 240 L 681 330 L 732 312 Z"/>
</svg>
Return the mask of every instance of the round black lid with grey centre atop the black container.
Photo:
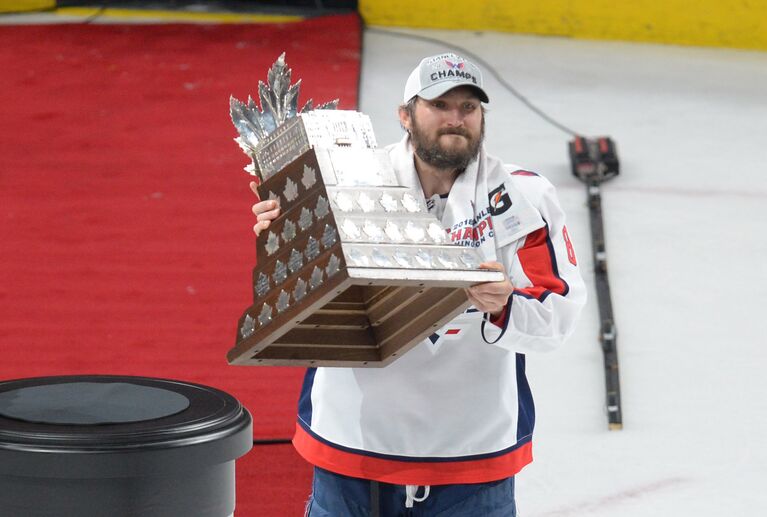
<svg viewBox="0 0 767 517">
<path fill-rule="evenodd" d="M 166 471 L 231 461 L 251 446 L 250 414 L 208 386 L 103 375 L 0 383 L 0 474 Z"/>
</svg>

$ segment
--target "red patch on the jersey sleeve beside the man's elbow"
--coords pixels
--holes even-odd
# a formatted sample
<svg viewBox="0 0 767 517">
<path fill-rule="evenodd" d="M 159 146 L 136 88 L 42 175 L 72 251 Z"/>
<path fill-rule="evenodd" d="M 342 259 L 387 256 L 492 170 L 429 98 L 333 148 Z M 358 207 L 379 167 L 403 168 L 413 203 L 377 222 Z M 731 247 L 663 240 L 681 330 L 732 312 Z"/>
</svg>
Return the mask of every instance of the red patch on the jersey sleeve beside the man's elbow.
<svg viewBox="0 0 767 517">
<path fill-rule="evenodd" d="M 562 296 L 567 294 L 569 287 L 559 276 L 548 226 L 530 233 L 525 239 L 525 245 L 517 252 L 517 257 L 522 270 L 533 285 L 515 289 L 515 293 L 541 301 L 550 293 Z"/>
</svg>

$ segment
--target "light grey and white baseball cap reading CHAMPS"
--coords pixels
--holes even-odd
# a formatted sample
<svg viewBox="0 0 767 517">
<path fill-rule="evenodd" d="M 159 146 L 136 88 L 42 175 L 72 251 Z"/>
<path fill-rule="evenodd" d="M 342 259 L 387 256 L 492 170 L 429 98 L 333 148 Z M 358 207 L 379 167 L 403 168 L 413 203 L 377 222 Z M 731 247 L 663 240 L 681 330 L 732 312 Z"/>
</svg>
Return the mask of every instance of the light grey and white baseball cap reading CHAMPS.
<svg viewBox="0 0 767 517">
<path fill-rule="evenodd" d="M 477 90 L 479 100 L 489 102 L 477 65 L 451 52 L 427 57 L 410 73 L 405 83 L 404 102 L 416 95 L 426 100 L 436 99 L 457 86 L 471 86 Z"/>
</svg>

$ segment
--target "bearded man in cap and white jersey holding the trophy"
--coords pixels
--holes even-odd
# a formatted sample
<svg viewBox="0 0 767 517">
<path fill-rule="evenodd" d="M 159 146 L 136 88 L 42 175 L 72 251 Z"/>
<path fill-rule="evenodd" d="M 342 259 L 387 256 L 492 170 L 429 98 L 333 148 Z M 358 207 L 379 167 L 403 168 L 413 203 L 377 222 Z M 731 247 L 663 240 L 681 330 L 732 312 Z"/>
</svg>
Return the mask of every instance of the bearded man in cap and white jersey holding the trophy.
<svg viewBox="0 0 767 517">
<path fill-rule="evenodd" d="M 400 183 L 506 278 L 467 289 L 465 313 L 385 368 L 307 371 L 293 439 L 315 466 L 307 515 L 515 516 L 535 422 L 525 354 L 567 339 L 585 287 L 554 187 L 484 150 L 479 68 L 427 57 L 403 102 L 387 148 Z M 258 234 L 279 206 L 253 211 Z"/>
</svg>

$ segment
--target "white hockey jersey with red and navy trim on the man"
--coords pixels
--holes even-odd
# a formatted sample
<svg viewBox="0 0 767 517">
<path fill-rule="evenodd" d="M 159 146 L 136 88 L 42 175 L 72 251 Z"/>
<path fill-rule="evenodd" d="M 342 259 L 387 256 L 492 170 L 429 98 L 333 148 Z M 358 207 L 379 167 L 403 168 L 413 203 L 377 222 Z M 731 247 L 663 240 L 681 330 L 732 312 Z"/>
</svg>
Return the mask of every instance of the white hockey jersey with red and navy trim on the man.
<svg viewBox="0 0 767 517">
<path fill-rule="evenodd" d="M 407 137 L 387 148 L 421 190 Z M 585 287 L 554 187 L 480 151 L 442 223 L 453 242 L 506 266 L 515 289 L 493 323 L 470 307 L 385 368 L 306 373 L 293 443 L 310 463 L 400 485 L 480 483 L 532 461 L 535 410 L 525 354 L 573 331 Z"/>
</svg>

